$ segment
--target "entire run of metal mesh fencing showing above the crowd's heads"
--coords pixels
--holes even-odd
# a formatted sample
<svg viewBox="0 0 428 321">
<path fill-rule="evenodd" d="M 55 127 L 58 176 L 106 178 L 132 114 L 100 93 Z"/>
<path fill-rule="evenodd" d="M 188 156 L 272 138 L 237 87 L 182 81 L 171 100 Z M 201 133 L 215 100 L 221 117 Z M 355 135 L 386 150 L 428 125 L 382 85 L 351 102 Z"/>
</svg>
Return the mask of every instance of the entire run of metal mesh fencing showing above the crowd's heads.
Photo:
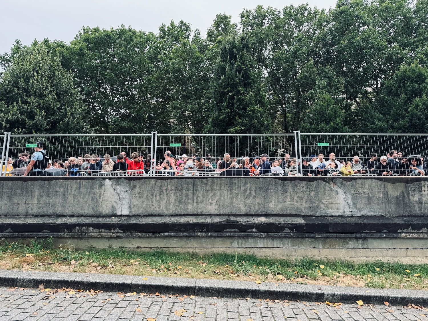
<svg viewBox="0 0 428 321">
<path fill-rule="evenodd" d="M 86 154 L 96 154 L 101 158 L 109 154 L 111 158 L 125 152 L 128 157 L 132 152 L 144 155 L 144 172 L 138 170 L 139 176 L 156 176 L 159 165 L 164 159 L 166 151 L 181 158 L 181 155 L 194 155 L 209 160 L 215 168 L 215 158 L 223 159 L 229 153 L 231 159 L 241 160 L 243 157 L 252 158 L 268 154 L 270 160 L 283 158 L 289 154 L 290 158 L 310 157 L 310 155 L 324 154 L 329 159 L 330 153 L 335 153 L 336 160 L 352 160 L 357 155 L 367 165 L 370 154 L 377 153 L 378 158 L 387 155 L 391 150 L 410 155 L 428 154 L 428 134 L 304 134 L 295 131 L 294 134 L 82 134 L 82 135 L 15 135 L 3 133 L 0 136 L 2 154 L 1 165 L 6 164 L 7 158 L 18 159 L 21 152 L 27 151 L 30 155 L 36 142 L 42 142 L 44 150 L 51 160 L 66 161 L 71 156 L 78 157 Z M 150 156 L 150 158 L 148 158 Z M 298 157 L 300 156 L 300 157 Z M 149 161 L 152 160 L 152 161 Z M 377 160 L 379 161 L 379 159 Z M 423 160 L 422 160 L 423 161 Z M 298 173 L 302 172 L 302 162 L 298 166 Z M 300 168 L 299 168 L 300 167 Z M 158 166 L 159 168 L 159 166 Z M 3 169 L 3 166 L 0 166 Z M 131 170 L 124 171 L 127 175 L 137 175 Z M 426 173 L 428 174 L 428 172 Z M 5 169 L 0 175 L 6 175 Z M 107 173 L 93 173 L 94 176 L 121 175 Z M 168 174 L 167 174 L 168 175 Z M 174 173 L 175 175 L 175 173 Z M 192 174 L 195 175 L 195 174 Z M 219 175 L 198 172 L 196 175 Z"/>
</svg>

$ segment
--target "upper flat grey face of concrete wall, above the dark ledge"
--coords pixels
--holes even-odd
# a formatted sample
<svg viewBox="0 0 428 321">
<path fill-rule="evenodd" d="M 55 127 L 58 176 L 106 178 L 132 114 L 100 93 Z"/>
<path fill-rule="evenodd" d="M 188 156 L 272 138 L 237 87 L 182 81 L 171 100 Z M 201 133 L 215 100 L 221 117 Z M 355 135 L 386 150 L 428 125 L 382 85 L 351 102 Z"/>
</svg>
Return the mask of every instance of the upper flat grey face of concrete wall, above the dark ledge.
<svg viewBox="0 0 428 321">
<path fill-rule="evenodd" d="M 425 216 L 428 179 L 0 178 L 0 216 Z"/>
</svg>

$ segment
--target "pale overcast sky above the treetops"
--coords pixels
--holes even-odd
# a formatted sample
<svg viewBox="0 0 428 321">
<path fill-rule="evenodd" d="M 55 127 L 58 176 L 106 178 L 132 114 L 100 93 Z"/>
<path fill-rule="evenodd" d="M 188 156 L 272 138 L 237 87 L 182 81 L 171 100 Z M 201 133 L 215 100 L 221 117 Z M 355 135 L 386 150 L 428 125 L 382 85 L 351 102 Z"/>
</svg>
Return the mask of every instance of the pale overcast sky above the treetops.
<svg viewBox="0 0 428 321">
<path fill-rule="evenodd" d="M 334 7 L 333 0 L 1 0 L 0 54 L 20 39 L 29 45 L 33 39 L 70 42 L 83 26 L 110 28 L 121 24 L 137 30 L 158 32 L 162 23 L 183 20 L 205 36 L 218 13 L 239 21 L 243 8 L 257 5 L 283 8 L 309 3 L 318 9 Z"/>
</svg>

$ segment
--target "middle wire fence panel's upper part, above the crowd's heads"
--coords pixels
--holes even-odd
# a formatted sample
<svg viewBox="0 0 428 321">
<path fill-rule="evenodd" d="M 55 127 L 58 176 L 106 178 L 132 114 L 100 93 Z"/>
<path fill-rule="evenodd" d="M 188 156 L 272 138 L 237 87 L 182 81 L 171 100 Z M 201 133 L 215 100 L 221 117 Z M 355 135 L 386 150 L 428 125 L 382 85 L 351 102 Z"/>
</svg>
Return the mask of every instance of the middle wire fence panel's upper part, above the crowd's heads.
<svg viewBox="0 0 428 321">
<path fill-rule="evenodd" d="M 166 151 L 172 155 L 195 155 L 214 160 L 229 153 L 231 158 L 251 158 L 264 153 L 271 160 L 290 154 L 296 157 L 294 134 L 158 134 L 155 162 L 163 160 Z"/>
</svg>

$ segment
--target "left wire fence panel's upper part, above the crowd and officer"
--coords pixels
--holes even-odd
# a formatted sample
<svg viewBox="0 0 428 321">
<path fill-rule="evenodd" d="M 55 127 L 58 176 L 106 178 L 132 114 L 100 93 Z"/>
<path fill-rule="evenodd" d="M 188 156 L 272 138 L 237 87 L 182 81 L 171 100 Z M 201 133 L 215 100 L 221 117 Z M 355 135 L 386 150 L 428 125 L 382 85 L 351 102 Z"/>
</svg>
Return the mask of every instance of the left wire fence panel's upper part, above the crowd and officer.
<svg viewBox="0 0 428 321">
<path fill-rule="evenodd" d="M 125 152 L 144 154 L 152 151 L 151 134 L 115 134 L 115 135 L 10 135 L 9 156 L 18 159 L 21 152 L 29 155 L 34 152 L 34 144 L 42 142 L 49 158 L 65 162 L 70 157 L 96 154 L 111 157 Z"/>
</svg>

